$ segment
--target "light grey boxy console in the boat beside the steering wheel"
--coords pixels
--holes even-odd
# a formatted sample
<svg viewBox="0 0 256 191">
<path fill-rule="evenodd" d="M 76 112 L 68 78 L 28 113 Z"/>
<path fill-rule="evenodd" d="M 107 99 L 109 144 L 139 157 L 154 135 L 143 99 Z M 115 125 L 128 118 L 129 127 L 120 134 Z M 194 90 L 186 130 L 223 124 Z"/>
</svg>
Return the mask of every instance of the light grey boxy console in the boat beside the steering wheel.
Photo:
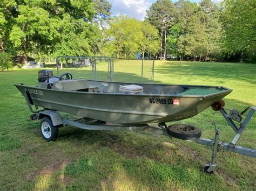
<svg viewBox="0 0 256 191">
<path fill-rule="evenodd" d="M 89 89 L 89 82 L 85 79 L 55 81 L 51 89 L 74 91 Z"/>
</svg>

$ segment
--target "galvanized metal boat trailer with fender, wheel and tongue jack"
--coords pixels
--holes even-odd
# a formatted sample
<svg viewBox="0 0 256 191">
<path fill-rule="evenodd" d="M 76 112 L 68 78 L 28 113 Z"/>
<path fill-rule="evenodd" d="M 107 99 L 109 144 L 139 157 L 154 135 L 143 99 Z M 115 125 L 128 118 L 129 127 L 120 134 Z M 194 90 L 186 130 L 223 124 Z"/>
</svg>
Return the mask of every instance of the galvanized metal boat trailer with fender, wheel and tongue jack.
<svg viewBox="0 0 256 191">
<path fill-rule="evenodd" d="M 31 105 L 29 104 L 29 108 L 32 110 Z M 214 109 L 214 108 L 213 108 Z M 203 167 L 203 172 L 212 174 L 216 169 L 216 155 L 217 151 L 225 150 L 238 154 L 248 155 L 250 157 L 256 157 L 256 150 L 251 148 L 244 148 L 241 146 L 237 146 L 236 143 L 242 132 L 244 132 L 247 124 L 250 122 L 254 112 L 256 111 L 255 107 L 247 107 L 244 111 L 239 113 L 237 110 L 230 110 L 229 114 L 227 113 L 227 109 L 219 108 L 218 109 L 223 117 L 226 119 L 228 125 L 231 126 L 233 131 L 236 133 L 233 140 L 230 143 L 227 142 L 219 142 L 220 130 L 216 128 L 215 123 L 212 125 L 215 127 L 215 138 L 214 140 L 206 139 L 206 138 L 198 138 L 193 140 L 187 140 L 190 142 L 198 143 L 201 145 L 210 146 L 212 148 L 212 158 L 209 164 L 206 164 Z M 248 111 L 250 110 L 250 111 Z M 247 116 L 244 121 L 242 121 L 242 115 L 248 111 Z M 36 113 L 35 111 L 33 111 Z M 104 130 L 104 131 L 137 131 L 137 132 L 151 132 L 159 135 L 165 135 L 172 138 L 170 133 L 168 132 L 168 127 L 165 123 L 159 123 L 158 128 L 147 125 L 147 124 L 134 124 L 134 125 L 120 125 L 120 124 L 110 124 L 106 122 L 100 122 L 91 118 L 80 118 L 76 120 L 70 120 L 66 118 L 62 118 L 58 111 L 52 110 L 41 110 L 38 111 L 37 114 L 33 114 L 30 116 L 31 120 L 43 119 L 41 122 L 41 131 L 42 135 L 46 140 L 54 140 L 57 139 L 58 136 L 58 128 L 65 127 L 68 125 L 75 126 L 80 129 L 85 130 Z M 234 123 L 237 121 L 239 126 Z M 52 129 L 55 128 L 55 129 Z M 49 133 L 49 129 L 51 130 Z"/>
</svg>

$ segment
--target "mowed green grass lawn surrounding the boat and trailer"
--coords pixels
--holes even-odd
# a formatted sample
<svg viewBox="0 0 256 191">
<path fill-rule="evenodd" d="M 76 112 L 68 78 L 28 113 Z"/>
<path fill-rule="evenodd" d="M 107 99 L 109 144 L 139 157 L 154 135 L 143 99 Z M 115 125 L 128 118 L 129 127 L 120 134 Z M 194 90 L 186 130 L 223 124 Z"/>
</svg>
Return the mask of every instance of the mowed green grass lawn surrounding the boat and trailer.
<svg viewBox="0 0 256 191">
<path fill-rule="evenodd" d="M 157 83 L 226 86 L 226 108 L 242 111 L 256 105 L 256 65 L 156 61 Z M 141 65 L 123 63 L 115 68 L 118 81 L 140 79 Z M 60 73 L 65 72 L 63 69 Z M 91 75 L 68 70 L 74 77 Z M 227 151 L 217 154 L 217 171 L 201 172 L 211 160 L 209 147 L 150 133 L 59 129 L 55 142 L 45 142 L 39 121 L 29 121 L 30 111 L 14 83 L 35 85 L 38 69 L 0 73 L 0 188 L 5 189 L 200 189 L 255 190 L 256 161 Z M 99 76 L 106 76 L 102 69 Z M 83 76 L 85 75 L 85 76 Z M 150 82 L 150 76 L 143 81 Z M 211 122 L 230 142 L 233 130 L 219 112 L 210 108 L 182 123 L 198 126 L 202 137 L 214 138 Z M 175 122 L 180 123 L 180 122 Z M 171 123 L 169 123 L 171 124 Z M 156 125 L 156 124 L 154 124 Z M 256 149 L 256 116 L 238 145 Z"/>
</svg>

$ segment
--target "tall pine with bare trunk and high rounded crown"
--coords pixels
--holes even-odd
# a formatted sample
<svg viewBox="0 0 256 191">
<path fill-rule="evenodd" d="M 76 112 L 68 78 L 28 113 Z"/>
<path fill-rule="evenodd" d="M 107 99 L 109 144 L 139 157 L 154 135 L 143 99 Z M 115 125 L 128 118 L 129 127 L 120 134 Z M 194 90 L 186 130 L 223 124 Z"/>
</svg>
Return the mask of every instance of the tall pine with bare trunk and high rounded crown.
<svg viewBox="0 0 256 191">
<path fill-rule="evenodd" d="M 170 0 L 158 0 L 146 11 L 146 20 L 156 26 L 161 34 L 160 58 L 166 58 L 166 37 L 169 28 L 174 24 L 174 5 Z M 164 37 L 163 37 L 164 36 Z M 164 42 L 164 56 L 162 47 Z"/>
</svg>

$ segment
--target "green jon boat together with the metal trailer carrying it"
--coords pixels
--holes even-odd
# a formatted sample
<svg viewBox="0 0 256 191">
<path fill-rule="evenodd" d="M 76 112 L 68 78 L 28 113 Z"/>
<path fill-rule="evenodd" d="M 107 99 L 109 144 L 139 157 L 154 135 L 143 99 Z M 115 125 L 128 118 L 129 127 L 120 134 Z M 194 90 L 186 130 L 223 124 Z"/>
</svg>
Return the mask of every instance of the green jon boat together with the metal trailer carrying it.
<svg viewBox="0 0 256 191">
<path fill-rule="evenodd" d="M 70 73 L 55 77 L 52 70 L 39 71 L 38 81 L 36 87 L 15 86 L 24 95 L 30 110 L 36 113 L 30 119 L 42 119 L 41 133 L 47 141 L 56 140 L 58 128 L 68 125 L 85 130 L 153 132 L 213 148 L 211 162 L 203 167 L 205 173 L 214 172 L 218 150 L 256 157 L 252 148 L 236 145 L 256 108 L 247 107 L 241 113 L 224 109 L 225 103 L 221 98 L 230 94 L 231 89 L 222 86 L 73 80 Z M 34 111 L 31 105 L 44 109 Z M 200 138 L 201 130 L 192 125 L 173 124 L 167 127 L 165 123 L 193 117 L 210 106 L 221 112 L 235 132 L 231 142 L 219 142 L 220 130 L 216 129 L 215 123 L 214 140 Z M 83 118 L 66 119 L 59 111 Z M 243 120 L 245 112 L 247 115 Z M 159 128 L 147 123 L 159 123 Z"/>
</svg>

